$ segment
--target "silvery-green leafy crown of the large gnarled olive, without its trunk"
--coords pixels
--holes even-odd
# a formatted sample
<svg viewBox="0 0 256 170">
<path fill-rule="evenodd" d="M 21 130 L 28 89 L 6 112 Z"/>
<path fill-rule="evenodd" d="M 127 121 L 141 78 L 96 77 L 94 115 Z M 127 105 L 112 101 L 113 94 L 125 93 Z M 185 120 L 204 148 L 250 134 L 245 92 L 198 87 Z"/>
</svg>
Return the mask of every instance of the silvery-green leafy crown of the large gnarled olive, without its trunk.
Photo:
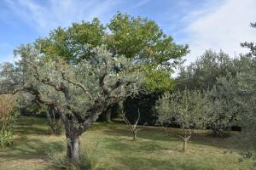
<svg viewBox="0 0 256 170">
<path fill-rule="evenodd" d="M 63 108 L 73 109 L 65 106 L 72 105 L 76 111 L 81 111 L 82 114 L 90 105 L 95 104 L 95 99 L 105 99 L 107 97 L 105 95 L 111 95 L 111 99 L 113 99 L 113 101 L 108 101 L 109 104 L 106 103 L 107 107 L 114 102 L 114 99 L 125 97 L 125 94 L 128 96 L 133 94 L 133 89 L 135 91 L 137 89 L 135 84 L 139 83 L 136 80 L 143 81 L 142 75 L 138 74 L 136 70 L 137 65 L 134 65 L 131 59 L 125 59 L 122 56 L 113 59 L 104 47 L 94 50 L 97 53 L 94 59 L 83 60 L 78 65 L 67 65 L 61 60 L 45 62 L 44 57 L 42 59 L 36 48 L 30 45 L 21 46 L 16 52 L 21 55 L 18 65 L 24 71 L 20 79 L 26 80 L 26 83 L 20 82 L 19 85 L 9 88 L 22 86 L 30 88 L 32 84 L 32 88 L 38 89 L 42 99 L 63 106 L 61 110 Z M 102 65 L 106 67 L 102 67 Z M 120 65 L 122 68 L 117 74 L 114 68 Z M 102 77 L 103 82 L 99 82 Z M 122 83 L 127 83 L 127 85 L 121 86 Z M 67 89 L 59 88 L 61 85 L 66 86 L 69 90 L 68 98 L 63 92 Z M 107 92 L 108 90 L 112 91 Z M 35 96 L 33 93 L 32 95 Z"/>
</svg>

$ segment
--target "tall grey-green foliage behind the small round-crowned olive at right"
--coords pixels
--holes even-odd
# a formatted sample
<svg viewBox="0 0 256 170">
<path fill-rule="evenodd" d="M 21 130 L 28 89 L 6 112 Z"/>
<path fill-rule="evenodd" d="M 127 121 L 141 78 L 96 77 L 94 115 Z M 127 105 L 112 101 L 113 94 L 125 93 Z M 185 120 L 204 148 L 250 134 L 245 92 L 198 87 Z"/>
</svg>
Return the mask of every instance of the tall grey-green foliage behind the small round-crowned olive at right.
<svg viewBox="0 0 256 170">
<path fill-rule="evenodd" d="M 178 89 L 200 89 L 209 97 L 212 121 L 208 126 L 218 136 L 223 135 L 228 126 L 241 125 L 246 111 L 253 111 L 253 108 L 246 109 L 253 101 L 248 101 L 252 97 L 242 89 L 247 83 L 241 81 L 253 77 L 252 61 L 250 55 L 230 59 L 222 51 L 217 54 L 209 50 L 195 63 L 182 67 L 176 79 Z M 242 103 L 246 104 L 242 106 Z"/>
</svg>

